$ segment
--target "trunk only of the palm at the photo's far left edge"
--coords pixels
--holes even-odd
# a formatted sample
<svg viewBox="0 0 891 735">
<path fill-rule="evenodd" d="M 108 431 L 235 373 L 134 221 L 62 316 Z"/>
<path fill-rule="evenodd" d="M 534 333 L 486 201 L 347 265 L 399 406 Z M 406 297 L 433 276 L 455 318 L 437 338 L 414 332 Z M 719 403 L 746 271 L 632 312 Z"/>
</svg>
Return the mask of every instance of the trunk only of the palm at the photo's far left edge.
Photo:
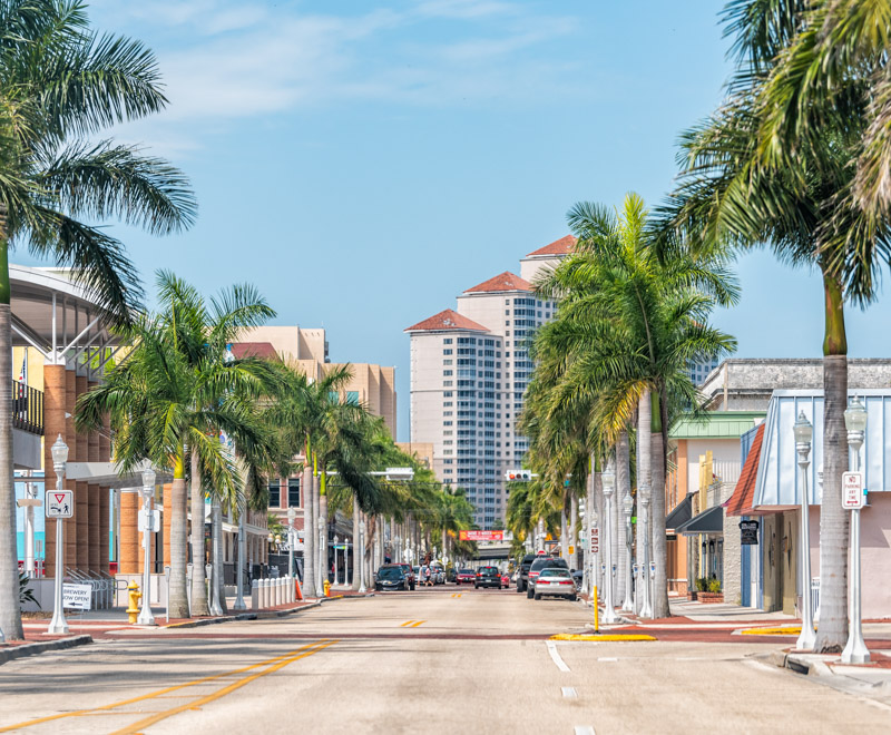
<svg viewBox="0 0 891 735">
<path fill-rule="evenodd" d="M 16 483 L 12 481 L 12 310 L 6 207 L 0 212 L 0 640 L 22 640 Z M 50 438 L 47 438 L 48 441 Z M 60 574 L 59 570 L 56 574 Z"/>
</svg>

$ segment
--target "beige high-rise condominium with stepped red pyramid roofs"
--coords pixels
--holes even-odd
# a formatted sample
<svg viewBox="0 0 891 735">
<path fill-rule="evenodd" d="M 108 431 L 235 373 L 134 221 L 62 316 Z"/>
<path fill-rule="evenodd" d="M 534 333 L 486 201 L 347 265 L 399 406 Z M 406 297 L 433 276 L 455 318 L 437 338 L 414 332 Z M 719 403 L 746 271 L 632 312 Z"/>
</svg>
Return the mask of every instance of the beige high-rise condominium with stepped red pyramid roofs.
<svg viewBox="0 0 891 735">
<path fill-rule="evenodd" d="M 520 275 L 501 273 L 405 330 L 411 337 L 411 441 L 433 445 L 433 470 L 463 488 L 482 528 L 503 522 L 505 472 L 528 449 L 516 433 L 532 372 L 527 341 L 554 316 L 532 281 L 575 246 L 567 235 L 520 261 Z"/>
</svg>

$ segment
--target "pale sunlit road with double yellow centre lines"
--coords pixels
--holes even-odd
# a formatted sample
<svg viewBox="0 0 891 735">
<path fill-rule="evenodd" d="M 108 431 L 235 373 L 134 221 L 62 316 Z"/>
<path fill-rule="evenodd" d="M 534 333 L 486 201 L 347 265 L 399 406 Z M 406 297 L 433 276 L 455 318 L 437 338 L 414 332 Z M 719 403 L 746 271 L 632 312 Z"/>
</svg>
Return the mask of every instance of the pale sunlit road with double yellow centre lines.
<svg viewBox="0 0 891 735">
<path fill-rule="evenodd" d="M 780 644 L 554 641 L 589 610 L 454 586 L 0 666 L 0 732 L 888 733 L 891 707 L 760 663 Z"/>
</svg>

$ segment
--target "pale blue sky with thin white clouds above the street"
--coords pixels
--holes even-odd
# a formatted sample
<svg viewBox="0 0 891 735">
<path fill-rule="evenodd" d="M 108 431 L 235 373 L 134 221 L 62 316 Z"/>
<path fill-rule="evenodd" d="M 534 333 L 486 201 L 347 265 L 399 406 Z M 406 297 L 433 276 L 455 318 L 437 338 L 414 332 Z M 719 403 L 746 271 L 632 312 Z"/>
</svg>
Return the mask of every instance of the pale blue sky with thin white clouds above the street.
<svg viewBox="0 0 891 735">
<path fill-rule="evenodd" d="M 192 177 L 200 214 L 119 228 L 144 278 L 253 282 L 275 323 L 324 326 L 334 361 L 396 365 L 402 330 L 567 233 L 581 199 L 656 204 L 675 141 L 721 99 L 719 2 L 225 0 L 90 3 L 145 41 L 170 107 L 121 127 Z M 28 262 L 20 254 L 20 262 Z M 740 356 L 819 356 L 822 288 L 768 254 L 738 263 L 716 322 Z M 888 356 L 888 300 L 852 310 L 852 356 Z"/>
</svg>

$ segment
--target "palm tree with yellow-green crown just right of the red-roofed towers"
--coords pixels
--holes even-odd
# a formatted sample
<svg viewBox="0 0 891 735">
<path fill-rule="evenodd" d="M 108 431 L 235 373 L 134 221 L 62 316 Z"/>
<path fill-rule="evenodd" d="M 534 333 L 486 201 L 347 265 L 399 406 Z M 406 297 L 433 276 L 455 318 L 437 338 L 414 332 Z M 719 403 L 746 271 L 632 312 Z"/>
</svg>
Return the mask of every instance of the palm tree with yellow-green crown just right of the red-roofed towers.
<svg viewBox="0 0 891 735">
<path fill-rule="evenodd" d="M 614 443 L 629 427 L 640 396 L 650 391 L 652 433 L 638 444 L 652 444 L 654 615 L 665 617 L 669 406 L 696 404 L 688 362 L 735 349 L 735 341 L 707 320 L 715 305 L 735 302 L 738 292 L 718 258 L 655 248 L 648 213 L 634 194 L 618 215 L 577 204 L 569 224 L 578 237 L 576 252 L 537 284 L 542 295 L 560 298 L 557 318 L 541 327 L 541 339 L 568 361 L 551 402 L 561 411 L 589 411 L 594 433 Z"/>
</svg>

